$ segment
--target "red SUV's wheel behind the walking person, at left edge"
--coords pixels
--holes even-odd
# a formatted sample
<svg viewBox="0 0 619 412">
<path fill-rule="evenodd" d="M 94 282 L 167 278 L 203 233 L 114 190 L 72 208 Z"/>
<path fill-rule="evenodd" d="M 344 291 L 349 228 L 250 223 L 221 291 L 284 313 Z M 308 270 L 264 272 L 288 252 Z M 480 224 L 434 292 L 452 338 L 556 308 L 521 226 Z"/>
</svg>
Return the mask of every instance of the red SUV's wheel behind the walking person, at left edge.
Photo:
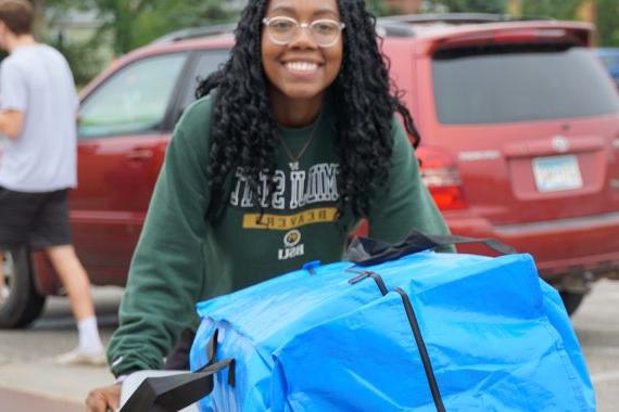
<svg viewBox="0 0 619 412">
<path fill-rule="evenodd" d="M 41 296 L 34 281 L 30 254 L 25 247 L 4 250 L 4 284 L 9 295 L 0 297 L 0 327 L 24 327 L 35 321 L 43 309 Z"/>
</svg>

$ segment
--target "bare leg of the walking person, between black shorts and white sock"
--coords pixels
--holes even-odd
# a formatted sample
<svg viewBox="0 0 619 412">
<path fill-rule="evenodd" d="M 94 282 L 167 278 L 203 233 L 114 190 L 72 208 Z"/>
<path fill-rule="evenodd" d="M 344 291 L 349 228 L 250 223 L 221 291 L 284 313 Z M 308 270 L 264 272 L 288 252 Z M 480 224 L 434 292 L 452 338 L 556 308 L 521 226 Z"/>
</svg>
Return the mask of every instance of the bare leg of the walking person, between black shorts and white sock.
<svg viewBox="0 0 619 412">
<path fill-rule="evenodd" d="M 73 245 L 50 247 L 46 253 L 68 294 L 75 319 L 80 321 L 93 317 L 94 305 L 90 295 L 90 281 Z"/>
</svg>

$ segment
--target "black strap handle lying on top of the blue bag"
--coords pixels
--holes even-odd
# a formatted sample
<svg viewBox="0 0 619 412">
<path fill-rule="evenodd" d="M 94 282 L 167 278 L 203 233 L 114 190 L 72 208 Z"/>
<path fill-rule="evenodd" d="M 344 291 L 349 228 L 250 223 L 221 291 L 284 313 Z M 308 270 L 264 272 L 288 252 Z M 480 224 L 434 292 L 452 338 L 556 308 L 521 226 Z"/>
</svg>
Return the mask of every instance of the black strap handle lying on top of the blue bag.
<svg viewBox="0 0 619 412">
<path fill-rule="evenodd" d="M 371 266 L 439 246 L 468 243 L 484 244 L 501 255 L 517 253 L 511 246 L 494 239 L 477 239 L 454 234 L 426 234 L 414 229 L 403 241 L 394 244 L 369 237 L 355 237 L 349 246 L 346 258 L 358 266 Z"/>
</svg>

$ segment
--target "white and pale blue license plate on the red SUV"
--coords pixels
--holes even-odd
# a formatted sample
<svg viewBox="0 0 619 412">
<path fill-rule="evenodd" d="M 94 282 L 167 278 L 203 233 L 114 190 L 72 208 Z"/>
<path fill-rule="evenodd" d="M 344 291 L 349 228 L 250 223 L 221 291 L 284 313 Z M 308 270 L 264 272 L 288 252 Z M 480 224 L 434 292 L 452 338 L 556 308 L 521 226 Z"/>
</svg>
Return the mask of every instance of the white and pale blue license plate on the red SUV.
<svg viewBox="0 0 619 412">
<path fill-rule="evenodd" d="M 576 156 L 536 157 L 533 176 L 540 192 L 557 192 L 582 188 L 582 177 Z"/>
</svg>

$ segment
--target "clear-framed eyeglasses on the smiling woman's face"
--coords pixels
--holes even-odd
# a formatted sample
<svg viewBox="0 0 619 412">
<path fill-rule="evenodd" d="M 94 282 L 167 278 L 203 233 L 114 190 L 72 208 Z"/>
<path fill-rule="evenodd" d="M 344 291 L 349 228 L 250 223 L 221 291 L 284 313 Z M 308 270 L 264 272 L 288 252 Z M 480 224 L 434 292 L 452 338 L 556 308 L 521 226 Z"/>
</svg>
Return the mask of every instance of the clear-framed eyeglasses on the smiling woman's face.
<svg viewBox="0 0 619 412">
<path fill-rule="evenodd" d="M 286 46 L 293 41 L 302 28 L 308 29 L 312 39 L 321 48 L 334 46 L 344 27 L 343 23 L 330 18 L 315 20 L 312 23 L 299 23 L 292 17 L 265 17 L 262 23 L 266 33 L 276 44 Z"/>
</svg>

